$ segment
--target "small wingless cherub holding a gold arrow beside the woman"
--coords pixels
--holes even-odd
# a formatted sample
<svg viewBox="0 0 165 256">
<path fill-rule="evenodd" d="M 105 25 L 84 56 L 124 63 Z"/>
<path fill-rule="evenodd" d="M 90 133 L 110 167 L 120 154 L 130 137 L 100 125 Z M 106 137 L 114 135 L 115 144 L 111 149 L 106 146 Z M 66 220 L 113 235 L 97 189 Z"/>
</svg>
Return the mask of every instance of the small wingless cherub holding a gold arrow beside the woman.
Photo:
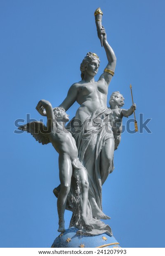
<svg viewBox="0 0 165 256">
<path fill-rule="evenodd" d="M 130 109 L 120 109 L 124 105 L 124 97 L 118 91 L 113 92 L 111 94 L 111 97 L 109 99 L 109 104 L 111 109 L 110 123 L 113 130 L 113 136 L 115 139 L 115 150 L 116 150 L 121 141 L 123 116 L 125 117 L 131 116 L 137 107 L 136 107 L 136 104 L 133 103 Z"/>
</svg>

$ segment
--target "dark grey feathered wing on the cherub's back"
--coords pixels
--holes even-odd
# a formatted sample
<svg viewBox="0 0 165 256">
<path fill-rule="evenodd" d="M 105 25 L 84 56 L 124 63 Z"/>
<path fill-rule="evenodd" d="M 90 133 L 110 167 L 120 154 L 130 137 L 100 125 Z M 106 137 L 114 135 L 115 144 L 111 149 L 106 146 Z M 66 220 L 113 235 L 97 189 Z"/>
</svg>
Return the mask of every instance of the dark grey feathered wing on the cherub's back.
<svg viewBox="0 0 165 256">
<path fill-rule="evenodd" d="M 42 122 L 35 121 L 27 123 L 24 126 L 19 126 L 18 129 L 31 133 L 35 140 L 37 140 L 39 143 L 42 143 L 42 145 L 48 144 L 50 142 L 49 131 Z"/>
</svg>

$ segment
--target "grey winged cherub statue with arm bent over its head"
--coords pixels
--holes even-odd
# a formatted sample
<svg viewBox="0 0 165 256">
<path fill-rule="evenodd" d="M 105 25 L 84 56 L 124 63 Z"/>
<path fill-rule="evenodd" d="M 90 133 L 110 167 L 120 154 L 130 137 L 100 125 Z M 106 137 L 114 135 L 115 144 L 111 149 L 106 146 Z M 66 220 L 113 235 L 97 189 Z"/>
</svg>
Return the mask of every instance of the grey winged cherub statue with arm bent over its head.
<svg viewBox="0 0 165 256">
<path fill-rule="evenodd" d="M 57 210 L 59 216 L 59 232 L 65 231 L 64 212 L 66 209 L 67 196 L 70 191 L 71 177 L 78 180 L 79 199 L 80 199 L 80 224 L 88 231 L 94 227 L 89 224 L 87 215 L 88 202 L 88 177 L 87 170 L 78 159 L 78 149 L 75 144 L 75 139 L 69 133 L 65 124 L 69 118 L 63 107 L 52 108 L 52 105 L 47 100 L 40 100 L 36 109 L 41 111 L 45 109 L 47 116 L 47 127 L 42 122 L 31 122 L 24 126 L 20 126 L 20 130 L 26 130 L 31 133 L 35 140 L 42 145 L 49 142 L 52 143 L 54 149 L 59 153 L 59 179 L 61 189 L 57 199 Z"/>
</svg>

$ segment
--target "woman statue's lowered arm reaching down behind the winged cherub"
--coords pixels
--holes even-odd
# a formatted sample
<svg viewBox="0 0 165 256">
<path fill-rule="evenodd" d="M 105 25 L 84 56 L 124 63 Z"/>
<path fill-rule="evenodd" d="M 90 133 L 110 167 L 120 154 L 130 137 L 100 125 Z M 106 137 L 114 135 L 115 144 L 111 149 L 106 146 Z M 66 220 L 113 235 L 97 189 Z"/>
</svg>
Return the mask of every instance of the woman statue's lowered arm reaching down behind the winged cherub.
<svg viewBox="0 0 165 256">
<path fill-rule="evenodd" d="M 59 105 L 59 107 L 64 107 L 64 109 L 67 111 L 76 101 L 77 95 L 78 95 L 78 84 L 74 83 L 69 88 L 68 94 L 65 100 Z"/>
</svg>

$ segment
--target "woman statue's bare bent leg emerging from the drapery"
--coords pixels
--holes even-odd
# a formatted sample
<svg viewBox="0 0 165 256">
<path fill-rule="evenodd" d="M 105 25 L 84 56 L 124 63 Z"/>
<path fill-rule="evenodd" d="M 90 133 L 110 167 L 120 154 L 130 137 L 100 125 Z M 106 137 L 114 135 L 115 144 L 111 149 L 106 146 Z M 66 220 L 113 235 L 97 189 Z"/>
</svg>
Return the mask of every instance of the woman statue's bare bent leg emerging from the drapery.
<svg viewBox="0 0 165 256">
<path fill-rule="evenodd" d="M 113 154 L 114 154 L 115 142 L 113 137 L 106 140 L 104 148 L 101 150 L 101 183 L 102 185 L 106 181 L 109 173 L 113 171 Z"/>
</svg>

